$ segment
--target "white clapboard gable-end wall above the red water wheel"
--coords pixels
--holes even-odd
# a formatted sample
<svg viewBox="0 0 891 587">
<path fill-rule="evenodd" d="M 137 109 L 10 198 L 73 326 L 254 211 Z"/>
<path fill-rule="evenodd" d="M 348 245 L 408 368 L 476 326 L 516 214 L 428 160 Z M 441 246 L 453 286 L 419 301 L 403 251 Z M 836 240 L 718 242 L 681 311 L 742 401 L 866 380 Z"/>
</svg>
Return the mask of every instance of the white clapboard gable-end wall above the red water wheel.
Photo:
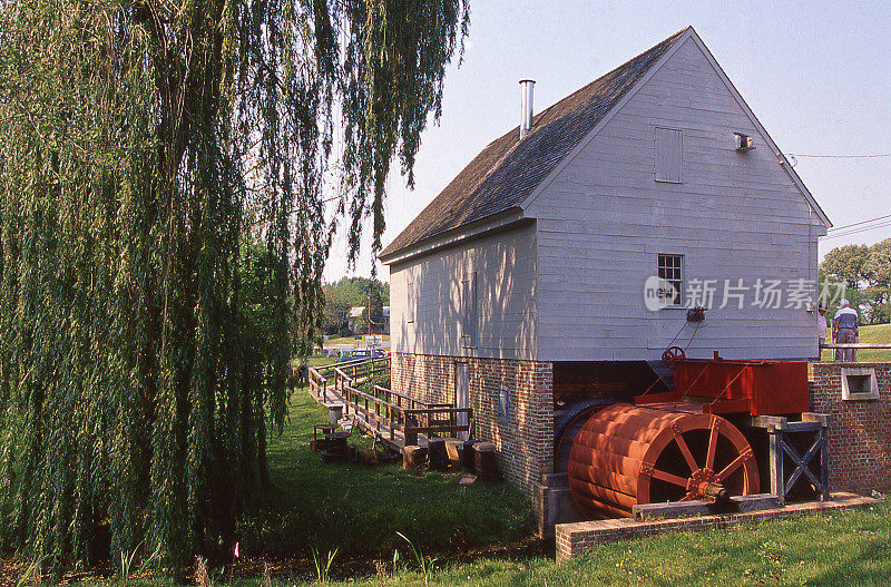
<svg viewBox="0 0 891 587">
<path fill-rule="evenodd" d="M 683 184 L 655 180 L 658 128 L 683 135 L 683 166 L 666 167 Z M 756 148 L 737 153 L 734 131 L 752 136 Z M 659 252 L 684 255 L 685 282 L 718 280 L 717 306 L 725 278 L 750 286 L 757 277 L 815 280 L 824 233 L 692 39 L 526 215 L 537 218 L 537 355 L 546 361 L 657 359 L 686 323 L 683 309 L 644 306 Z M 706 316 L 694 356 L 816 354 L 816 320 L 804 310 L 711 307 Z M 686 344 L 689 332 L 676 343 Z"/>
</svg>

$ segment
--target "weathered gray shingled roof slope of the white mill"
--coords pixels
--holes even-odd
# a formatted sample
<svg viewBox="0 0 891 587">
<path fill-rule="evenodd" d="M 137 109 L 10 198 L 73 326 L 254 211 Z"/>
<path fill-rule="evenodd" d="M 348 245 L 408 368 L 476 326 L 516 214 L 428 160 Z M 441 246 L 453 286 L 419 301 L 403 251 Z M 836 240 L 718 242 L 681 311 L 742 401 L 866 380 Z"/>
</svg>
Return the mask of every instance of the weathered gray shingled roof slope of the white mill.
<svg viewBox="0 0 891 587">
<path fill-rule="evenodd" d="M 452 228 L 519 208 L 557 164 L 686 31 L 676 32 L 535 117 L 532 130 L 519 128 L 490 143 L 396 236 L 381 257 Z"/>
</svg>

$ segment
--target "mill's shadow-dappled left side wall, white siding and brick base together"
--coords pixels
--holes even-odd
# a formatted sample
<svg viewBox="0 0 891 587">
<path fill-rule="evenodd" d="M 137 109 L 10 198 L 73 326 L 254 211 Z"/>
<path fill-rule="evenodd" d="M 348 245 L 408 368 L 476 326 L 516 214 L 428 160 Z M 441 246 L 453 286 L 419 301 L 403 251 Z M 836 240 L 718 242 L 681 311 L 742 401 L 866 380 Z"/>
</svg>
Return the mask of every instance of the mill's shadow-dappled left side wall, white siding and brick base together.
<svg viewBox="0 0 891 587">
<path fill-rule="evenodd" d="M 454 364 L 467 362 L 474 436 L 496 443 L 506 477 L 527 489 L 549 466 L 552 443 L 550 365 L 532 362 L 533 228 L 529 223 L 391 267 L 394 389 L 453 403 Z M 499 415 L 502 388 L 507 418 Z"/>
</svg>

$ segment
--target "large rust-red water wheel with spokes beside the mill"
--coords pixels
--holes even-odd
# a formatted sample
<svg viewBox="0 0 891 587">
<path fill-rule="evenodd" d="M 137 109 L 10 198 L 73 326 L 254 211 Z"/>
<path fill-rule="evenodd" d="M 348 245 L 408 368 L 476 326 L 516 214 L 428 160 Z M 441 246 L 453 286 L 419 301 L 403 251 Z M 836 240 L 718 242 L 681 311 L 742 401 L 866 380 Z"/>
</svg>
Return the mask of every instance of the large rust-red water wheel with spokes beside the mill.
<svg viewBox="0 0 891 587">
<path fill-rule="evenodd" d="M 630 404 L 591 415 L 572 441 L 568 472 L 572 499 L 588 517 L 758 491 L 752 447 L 732 423 Z"/>
</svg>

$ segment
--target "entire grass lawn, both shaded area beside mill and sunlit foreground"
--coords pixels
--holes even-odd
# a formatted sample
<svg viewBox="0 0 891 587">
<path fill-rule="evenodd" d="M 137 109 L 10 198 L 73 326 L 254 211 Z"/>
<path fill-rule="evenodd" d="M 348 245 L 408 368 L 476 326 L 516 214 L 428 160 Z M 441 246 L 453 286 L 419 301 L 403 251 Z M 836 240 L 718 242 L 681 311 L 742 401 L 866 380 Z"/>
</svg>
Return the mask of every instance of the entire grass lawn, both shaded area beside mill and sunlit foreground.
<svg viewBox="0 0 891 587">
<path fill-rule="evenodd" d="M 264 587 L 262 558 L 277 569 L 271 587 L 296 587 L 313 575 L 315 547 L 337 548 L 332 583 L 360 586 L 625 586 L 891 585 L 891 503 L 726 530 L 676 532 L 604 545 L 556 564 L 529 555 L 461 557 L 473 546 L 528 536 L 526 500 L 506 485 L 477 483 L 462 491 L 439 473 L 415 477 L 395 466 L 322 464 L 309 450 L 312 425 L 325 413 L 305 392 L 292 400 L 291 420 L 270 447 L 275 485 L 265 513 L 239 532 L 244 562 L 233 587 Z M 368 441 L 363 441 L 368 446 Z M 424 577 L 405 545 L 407 534 L 423 555 L 443 556 Z M 394 565 L 393 551 L 400 558 Z M 282 565 L 282 557 L 302 559 Z M 385 562 L 374 575 L 371 559 Z M 239 559 L 241 560 L 241 559 Z M 245 567 L 245 565 L 249 565 Z M 213 585 L 227 574 L 216 571 Z M 123 585 L 102 581 L 104 586 Z M 161 587 L 168 579 L 130 580 Z"/>
</svg>

